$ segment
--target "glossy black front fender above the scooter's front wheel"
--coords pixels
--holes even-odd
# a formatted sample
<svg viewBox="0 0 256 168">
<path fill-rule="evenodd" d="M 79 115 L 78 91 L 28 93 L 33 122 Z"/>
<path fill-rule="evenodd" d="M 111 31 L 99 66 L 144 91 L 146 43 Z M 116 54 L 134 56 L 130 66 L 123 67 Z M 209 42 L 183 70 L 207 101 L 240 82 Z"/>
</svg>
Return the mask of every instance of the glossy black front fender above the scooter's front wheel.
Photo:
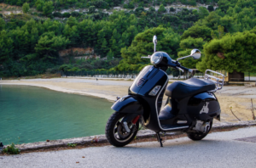
<svg viewBox="0 0 256 168">
<path fill-rule="evenodd" d="M 143 105 L 140 104 L 136 98 L 131 96 L 126 96 L 125 98 L 119 98 L 111 109 L 118 111 L 120 113 L 135 113 L 138 115 L 143 115 Z"/>
</svg>

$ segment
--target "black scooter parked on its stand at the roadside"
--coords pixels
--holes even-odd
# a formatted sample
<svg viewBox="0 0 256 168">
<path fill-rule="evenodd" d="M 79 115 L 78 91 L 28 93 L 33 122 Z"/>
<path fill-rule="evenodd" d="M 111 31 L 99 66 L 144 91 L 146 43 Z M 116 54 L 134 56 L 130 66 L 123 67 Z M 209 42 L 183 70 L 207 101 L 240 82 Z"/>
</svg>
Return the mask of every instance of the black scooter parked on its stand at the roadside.
<svg viewBox="0 0 256 168">
<path fill-rule="evenodd" d="M 116 112 L 108 119 L 105 133 L 113 146 L 123 147 L 131 143 L 137 135 L 139 122 L 156 132 L 162 147 L 160 132 L 186 132 L 190 139 L 196 141 L 210 132 L 213 118 L 220 120 L 221 110 L 213 92 L 223 87 L 224 75 L 207 70 L 203 80 L 191 77 L 167 87 L 168 67 L 189 71 L 191 76 L 194 71 L 183 67 L 179 59 L 172 60 L 165 52 L 155 52 L 156 36 L 153 42 L 154 54 L 143 57 L 150 59 L 153 65 L 145 66 L 129 88 L 128 95 L 117 98 L 111 107 Z M 193 49 L 189 56 L 180 59 L 188 57 L 200 59 L 201 52 Z M 160 110 L 164 92 L 168 98 Z"/>
</svg>

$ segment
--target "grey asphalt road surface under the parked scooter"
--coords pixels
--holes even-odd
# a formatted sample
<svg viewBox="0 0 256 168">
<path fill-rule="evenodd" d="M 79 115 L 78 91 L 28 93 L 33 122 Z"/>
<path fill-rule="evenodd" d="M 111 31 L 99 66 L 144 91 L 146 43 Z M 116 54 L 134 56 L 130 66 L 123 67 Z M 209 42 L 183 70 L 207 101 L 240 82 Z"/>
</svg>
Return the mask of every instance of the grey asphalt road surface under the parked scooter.
<svg viewBox="0 0 256 168">
<path fill-rule="evenodd" d="M 236 140 L 244 137 L 254 143 Z M 164 148 L 151 142 L 0 156 L 0 167 L 256 167 L 256 126 L 211 133 L 199 142 L 172 139 Z"/>
</svg>

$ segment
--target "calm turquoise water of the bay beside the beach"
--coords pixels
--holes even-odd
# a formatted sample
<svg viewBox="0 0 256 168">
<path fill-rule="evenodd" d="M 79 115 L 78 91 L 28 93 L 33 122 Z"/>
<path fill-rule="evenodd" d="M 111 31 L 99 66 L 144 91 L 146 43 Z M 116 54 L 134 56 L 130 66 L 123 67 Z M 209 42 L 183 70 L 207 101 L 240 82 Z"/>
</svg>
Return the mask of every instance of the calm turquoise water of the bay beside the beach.
<svg viewBox="0 0 256 168">
<path fill-rule="evenodd" d="M 104 98 L 0 85 L 0 142 L 33 143 L 104 134 L 113 103 Z"/>
</svg>

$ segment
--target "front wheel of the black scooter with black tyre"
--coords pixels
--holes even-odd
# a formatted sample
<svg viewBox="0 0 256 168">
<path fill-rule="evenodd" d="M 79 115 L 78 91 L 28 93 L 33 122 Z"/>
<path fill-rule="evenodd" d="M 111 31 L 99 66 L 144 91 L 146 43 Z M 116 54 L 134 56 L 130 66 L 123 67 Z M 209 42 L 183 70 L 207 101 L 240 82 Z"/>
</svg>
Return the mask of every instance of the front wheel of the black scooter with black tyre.
<svg viewBox="0 0 256 168">
<path fill-rule="evenodd" d="M 124 117 L 124 113 L 114 112 L 113 115 L 109 117 L 106 125 L 105 134 L 108 142 L 116 147 L 123 147 L 131 143 L 137 135 L 139 121 L 137 121 L 136 125 L 133 125 L 131 122 L 127 123 L 131 132 L 126 132 L 125 127 L 121 124 Z"/>
</svg>

